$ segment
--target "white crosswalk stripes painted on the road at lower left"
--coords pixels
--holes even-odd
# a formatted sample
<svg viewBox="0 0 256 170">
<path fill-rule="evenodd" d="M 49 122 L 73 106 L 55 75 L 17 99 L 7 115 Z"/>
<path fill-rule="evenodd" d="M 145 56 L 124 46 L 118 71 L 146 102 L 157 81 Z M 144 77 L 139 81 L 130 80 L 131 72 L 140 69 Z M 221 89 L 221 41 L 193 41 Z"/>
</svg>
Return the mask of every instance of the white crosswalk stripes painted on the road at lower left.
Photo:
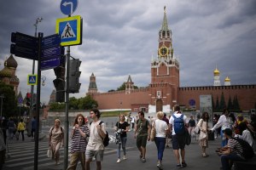
<svg viewBox="0 0 256 170">
<path fill-rule="evenodd" d="M 70 147 L 70 144 L 69 144 Z M 38 144 L 38 167 L 55 167 L 55 161 L 46 156 L 49 148 L 48 142 L 39 142 Z M 104 154 L 115 153 L 116 150 L 108 149 Z M 5 161 L 5 167 L 12 170 L 27 170 L 34 167 L 34 142 L 24 142 L 17 144 L 9 144 L 9 158 Z M 60 149 L 60 162 L 63 163 L 64 148 Z M 69 161 L 70 155 L 68 156 Z"/>
</svg>

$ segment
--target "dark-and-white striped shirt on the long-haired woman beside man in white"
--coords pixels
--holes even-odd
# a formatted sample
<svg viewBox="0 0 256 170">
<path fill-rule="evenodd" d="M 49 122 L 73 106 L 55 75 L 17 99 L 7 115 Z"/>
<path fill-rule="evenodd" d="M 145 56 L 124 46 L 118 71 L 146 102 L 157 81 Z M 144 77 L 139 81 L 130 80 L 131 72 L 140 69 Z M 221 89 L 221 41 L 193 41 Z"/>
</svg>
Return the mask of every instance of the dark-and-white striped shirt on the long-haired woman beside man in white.
<svg viewBox="0 0 256 170">
<path fill-rule="evenodd" d="M 90 136 L 90 130 L 87 127 L 87 125 L 84 125 L 80 127 L 83 133 L 86 134 L 86 138 L 89 138 Z M 71 143 L 70 153 L 74 152 L 85 152 L 86 146 L 87 146 L 87 140 L 84 138 L 80 133 L 78 129 L 75 129 L 75 132 L 73 134 L 73 139 Z"/>
</svg>

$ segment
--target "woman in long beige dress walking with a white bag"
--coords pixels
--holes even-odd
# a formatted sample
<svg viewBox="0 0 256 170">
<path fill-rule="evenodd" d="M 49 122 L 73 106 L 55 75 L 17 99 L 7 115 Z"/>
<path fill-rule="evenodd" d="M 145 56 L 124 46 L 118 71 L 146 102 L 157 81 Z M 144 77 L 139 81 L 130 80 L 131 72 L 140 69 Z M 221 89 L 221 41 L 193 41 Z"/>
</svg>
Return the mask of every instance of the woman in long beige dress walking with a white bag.
<svg viewBox="0 0 256 170">
<path fill-rule="evenodd" d="M 64 130 L 60 119 L 55 119 L 55 126 L 49 129 L 49 148 L 52 152 L 52 159 L 57 165 L 60 164 L 61 146 L 64 146 Z"/>
</svg>

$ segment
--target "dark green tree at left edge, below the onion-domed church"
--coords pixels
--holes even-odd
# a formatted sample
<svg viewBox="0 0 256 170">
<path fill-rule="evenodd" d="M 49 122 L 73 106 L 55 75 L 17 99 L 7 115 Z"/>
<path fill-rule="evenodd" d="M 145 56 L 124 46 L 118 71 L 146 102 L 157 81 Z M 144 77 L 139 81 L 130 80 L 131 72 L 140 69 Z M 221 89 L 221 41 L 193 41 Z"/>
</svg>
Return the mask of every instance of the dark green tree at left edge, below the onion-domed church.
<svg viewBox="0 0 256 170">
<path fill-rule="evenodd" d="M 19 116 L 19 111 L 17 110 L 17 99 L 15 96 L 14 87 L 3 82 L 0 82 L 0 95 L 3 94 L 3 116 Z M 1 100 L 2 101 L 2 100 Z"/>
</svg>

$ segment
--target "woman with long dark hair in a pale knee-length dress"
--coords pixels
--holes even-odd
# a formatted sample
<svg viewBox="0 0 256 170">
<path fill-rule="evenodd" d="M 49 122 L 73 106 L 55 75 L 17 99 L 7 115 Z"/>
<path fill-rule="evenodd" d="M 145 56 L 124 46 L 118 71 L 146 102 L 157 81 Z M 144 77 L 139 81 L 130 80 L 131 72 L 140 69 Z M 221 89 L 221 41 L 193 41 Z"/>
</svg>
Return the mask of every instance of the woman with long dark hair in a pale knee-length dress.
<svg viewBox="0 0 256 170">
<path fill-rule="evenodd" d="M 204 112 L 201 116 L 200 121 L 197 123 L 197 127 L 200 129 L 199 134 L 199 145 L 201 146 L 201 154 L 203 157 L 207 157 L 207 147 L 208 147 L 208 126 L 209 115 L 207 112 Z"/>
</svg>

